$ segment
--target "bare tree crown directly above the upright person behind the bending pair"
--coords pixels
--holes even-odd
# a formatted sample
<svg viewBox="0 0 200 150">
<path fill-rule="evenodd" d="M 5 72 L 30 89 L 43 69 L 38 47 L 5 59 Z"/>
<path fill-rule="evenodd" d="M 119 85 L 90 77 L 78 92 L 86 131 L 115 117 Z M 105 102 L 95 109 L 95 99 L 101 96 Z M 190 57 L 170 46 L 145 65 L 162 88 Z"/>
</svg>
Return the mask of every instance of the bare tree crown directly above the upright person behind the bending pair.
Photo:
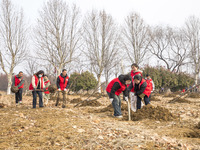
<svg viewBox="0 0 200 150">
<path fill-rule="evenodd" d="M 122 47 L 126 50 L 131 63 L 140 64 L 148 52 L 148 26 L 136 13 L 130 13 L 123 27 Z"/>
</svg>

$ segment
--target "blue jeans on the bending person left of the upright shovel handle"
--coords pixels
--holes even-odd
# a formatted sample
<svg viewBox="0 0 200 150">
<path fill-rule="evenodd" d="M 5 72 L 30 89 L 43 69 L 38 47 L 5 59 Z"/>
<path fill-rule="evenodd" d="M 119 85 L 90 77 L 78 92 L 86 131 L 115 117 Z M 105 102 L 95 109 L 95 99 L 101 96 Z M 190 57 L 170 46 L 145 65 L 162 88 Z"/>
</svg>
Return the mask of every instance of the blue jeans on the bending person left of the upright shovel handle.
<svg viewBox="0 0 200 150">
<path fill-rule="evenodd" d="M 110 97 L 110 93 L 108 93 L 108 96 Z M 121 116 L 122 112 L 121 112 L 121 98 L 120 96 L 115 95 L 114 99 L 112 101 L 112 106 L 114 108 L 114 116 Z"/>
</svg>

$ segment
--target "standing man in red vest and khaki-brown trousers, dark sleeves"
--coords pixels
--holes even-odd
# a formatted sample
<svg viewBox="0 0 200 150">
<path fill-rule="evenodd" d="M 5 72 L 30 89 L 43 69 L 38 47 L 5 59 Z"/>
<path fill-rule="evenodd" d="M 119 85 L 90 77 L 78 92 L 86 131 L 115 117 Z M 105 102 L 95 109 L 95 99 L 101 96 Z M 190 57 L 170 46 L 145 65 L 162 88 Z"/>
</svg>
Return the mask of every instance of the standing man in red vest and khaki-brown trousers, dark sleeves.
<svg viewBox="0 0 200 150">
<path fill-rule="evenodd" d="M 62 108 L 65 108 L 66 100 L 67 100 L 67 92 L 69 88 L 69 76 L 67 75 L 66 69 L 63 69 L 62 73 L 57 78 L 57 88 L 58 88 L 58 97 L 56 101 L 56 106 L 58 106 L 60 98 L 63 95 Z"/>
</svg>

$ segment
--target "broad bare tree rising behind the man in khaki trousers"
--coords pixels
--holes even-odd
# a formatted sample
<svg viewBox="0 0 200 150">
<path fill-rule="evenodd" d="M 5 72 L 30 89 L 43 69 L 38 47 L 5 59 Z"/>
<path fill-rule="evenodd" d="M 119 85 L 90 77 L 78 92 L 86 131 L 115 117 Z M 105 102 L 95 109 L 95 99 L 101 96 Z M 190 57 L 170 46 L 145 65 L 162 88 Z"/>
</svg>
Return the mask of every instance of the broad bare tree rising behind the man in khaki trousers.
<svg viewBox="0 0 200 150">
<path fill-rule="evenodd" d="M 76 57 L 80 47 L 79 9 L 63 0 L 47 2 L 35 28 L 38 57 L 50 63 L 60 74 Z"/>
</svg>

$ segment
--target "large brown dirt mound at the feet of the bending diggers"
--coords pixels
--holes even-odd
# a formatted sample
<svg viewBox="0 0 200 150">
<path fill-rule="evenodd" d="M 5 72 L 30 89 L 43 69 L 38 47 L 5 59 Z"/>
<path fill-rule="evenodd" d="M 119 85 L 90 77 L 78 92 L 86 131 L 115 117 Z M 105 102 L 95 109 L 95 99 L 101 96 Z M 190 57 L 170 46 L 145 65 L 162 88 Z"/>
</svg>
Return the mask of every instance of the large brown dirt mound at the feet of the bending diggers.
<svg viewBox="0 0 200 150">
<path fill-rule="evenodd" d="M 132 120 L 138 121 L 142 119 L 152 119 L 159 121 L 170 121 L 175 119 L 176 117 L 169 112 L 168 109 L 157 106 L 154 107 L 152 105 L 146 105 L 142 109 L 137 110 L 136 113 L 132 113 Z"/>
</svg>

